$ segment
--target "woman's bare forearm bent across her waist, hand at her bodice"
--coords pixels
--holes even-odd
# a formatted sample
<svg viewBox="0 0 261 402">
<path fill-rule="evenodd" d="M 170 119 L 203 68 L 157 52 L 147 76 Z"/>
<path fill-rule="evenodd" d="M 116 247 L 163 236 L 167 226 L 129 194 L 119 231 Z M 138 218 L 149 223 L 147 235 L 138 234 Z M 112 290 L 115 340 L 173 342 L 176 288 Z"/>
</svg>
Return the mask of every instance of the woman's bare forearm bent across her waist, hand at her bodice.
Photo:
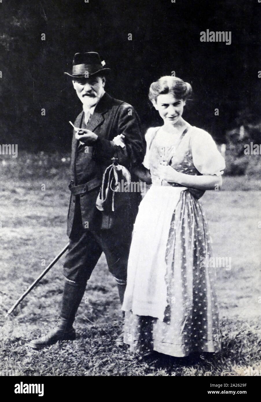
<svg viewBox="0 0 261 402">
<path fill-rule="evenodd" d="M 222 177 L 216 176 L 216 174 L 193 176 L 191 174 L 177 172 L 177 170 L 169 165 L 160 165 L 157 170 L 162 180 L 179 183 L 184 187 L 192 187 L 200 190 L 214 190 L 217 185 L 218 187 L 222 185 Z"/>
</svg>

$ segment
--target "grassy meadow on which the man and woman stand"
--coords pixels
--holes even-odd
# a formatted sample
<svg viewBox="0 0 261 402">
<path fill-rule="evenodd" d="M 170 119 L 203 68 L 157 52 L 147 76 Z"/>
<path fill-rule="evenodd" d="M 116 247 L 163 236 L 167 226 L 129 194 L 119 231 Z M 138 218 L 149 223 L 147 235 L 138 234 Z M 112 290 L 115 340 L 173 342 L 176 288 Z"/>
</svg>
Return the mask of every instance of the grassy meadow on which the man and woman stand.
<svg viewBox="0 0 261 402">
<path fill-rule="evenodd" d="M 231 257 L 231 270 L 217 269 L 222 351 L 216 355 L 143 358 L 114 345 L 121 310 L 104 256 L 94 270 L 75 321 L 77 339 L 42 351 L 26 347 L 46 334 L 59 313 L 63 258 L 22 301 L 4 314 L 67 243 L 67 156 L 5 159 L 1 166 L 0 374 L 54 376 L 238 376 L 261 373 L 260 183 L 224 178 L 221 191 L 208 191 L 201 204 L 208 217 L 216 256 Z M 51 166 L 51 168 L 49 167 Z M 30 176 L 29 176 L 30 175 Z M 30 179 L 28 179 L 30 177 Z M 45 191 L 42 191 L 45 185 Z"/>
</svg>

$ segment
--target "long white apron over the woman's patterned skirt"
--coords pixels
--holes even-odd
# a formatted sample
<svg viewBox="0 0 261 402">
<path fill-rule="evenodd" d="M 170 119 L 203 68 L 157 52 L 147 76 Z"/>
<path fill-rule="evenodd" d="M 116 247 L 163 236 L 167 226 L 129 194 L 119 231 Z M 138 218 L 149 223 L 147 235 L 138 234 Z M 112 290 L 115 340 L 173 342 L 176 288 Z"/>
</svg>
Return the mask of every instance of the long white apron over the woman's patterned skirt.
<svg viewBox="0 0 261 402">
<path fill-rule="evenodd" d="M 180 193 L 186 189 L 152 185 L 141 201 L 130 246 L 122 310 L 163 321 L 167 306 L 167 240 Z"/>
</svg>

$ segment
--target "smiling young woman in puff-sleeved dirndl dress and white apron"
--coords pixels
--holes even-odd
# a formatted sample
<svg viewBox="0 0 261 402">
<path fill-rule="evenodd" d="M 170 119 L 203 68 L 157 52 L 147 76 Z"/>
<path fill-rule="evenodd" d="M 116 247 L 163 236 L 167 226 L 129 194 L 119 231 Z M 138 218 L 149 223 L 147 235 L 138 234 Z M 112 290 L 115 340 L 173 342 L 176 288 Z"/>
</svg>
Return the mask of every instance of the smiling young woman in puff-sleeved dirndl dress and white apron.
<svg viewBox="0 0 261 402">
<path fill-rule="evenodd" d="M 130 351 L 184 357 L 220 349 L 211 238 L 192 189 L 218 189 L 225 163 L 210 134 L 182 117 L 191 92 L 171 76 L 149 90 L 163 125 L 145 135 L 152 186 L 139 206 L 122 306 Z"/>
</svg>

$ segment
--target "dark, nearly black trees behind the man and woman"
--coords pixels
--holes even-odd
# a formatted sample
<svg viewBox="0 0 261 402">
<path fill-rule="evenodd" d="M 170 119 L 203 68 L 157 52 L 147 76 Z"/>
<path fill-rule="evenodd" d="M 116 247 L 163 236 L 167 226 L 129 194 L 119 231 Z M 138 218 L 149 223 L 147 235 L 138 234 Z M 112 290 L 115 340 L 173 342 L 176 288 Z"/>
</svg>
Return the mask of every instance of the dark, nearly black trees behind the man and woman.
<svg viewBox="0 0 261 402">
<path fill-rule="evenodd" d="M 258 122 L 257 0 L 3 0 L 0 15 L 1 144 L 69 150 L 81 104 L 63 72 L 77 51 L 100 53 L 112 68 L 108 92 L 137 109 L 144 129 L 160 124 L 149 85 L 172 71 L 194 89 L 185 118 L 219 142 L 242 119 Z M 231 45 L 200 42 L 206 29 L 231 31 Z"/>
</svg>

